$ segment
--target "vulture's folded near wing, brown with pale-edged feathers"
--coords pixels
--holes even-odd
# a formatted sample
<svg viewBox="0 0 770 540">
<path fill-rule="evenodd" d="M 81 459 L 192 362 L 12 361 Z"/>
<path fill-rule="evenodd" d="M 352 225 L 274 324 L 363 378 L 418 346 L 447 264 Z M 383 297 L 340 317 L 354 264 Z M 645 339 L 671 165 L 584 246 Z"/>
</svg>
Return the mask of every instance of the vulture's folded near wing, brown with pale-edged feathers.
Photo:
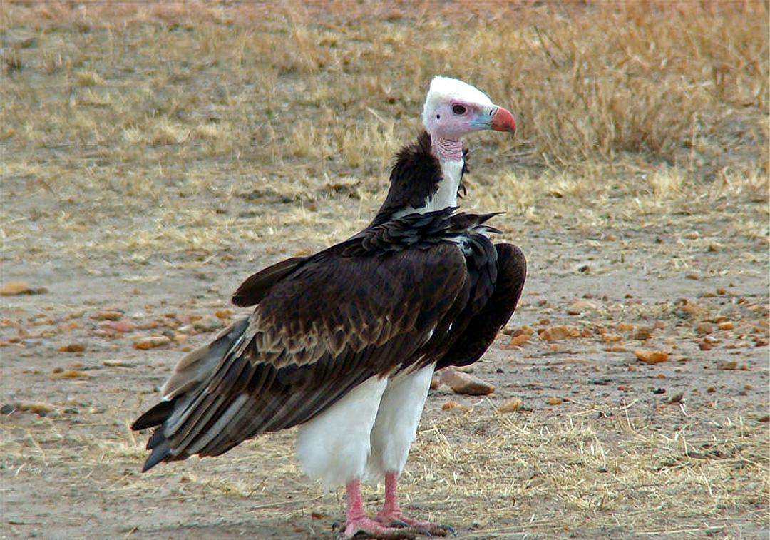
<svg viewBox="0 0 770 540">
<path fill-rule="evenodd" d="M 167 401 L 133 426 L 159 425 L 145 470 L 301 424 L 357 384 L 412 361 L 467 298 L 467 280 L 462 253 L 448 243 L 314 257 L 269 290 L 248 320 L 179 363 Z"/>
</svg>

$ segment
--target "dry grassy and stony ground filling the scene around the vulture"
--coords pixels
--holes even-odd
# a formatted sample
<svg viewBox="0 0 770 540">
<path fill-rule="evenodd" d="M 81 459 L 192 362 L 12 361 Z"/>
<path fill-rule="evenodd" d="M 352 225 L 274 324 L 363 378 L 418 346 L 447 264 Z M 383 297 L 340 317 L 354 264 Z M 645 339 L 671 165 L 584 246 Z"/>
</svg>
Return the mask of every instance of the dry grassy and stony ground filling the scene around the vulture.
<svg viewBox="0 0 770 540">
<path fill-rule="evenodd" d="M 407 508 L 464 538 L 766 538 L 758 6 L 527 8 L 516 22 L 490 8 L 465 39 L 395 8 L 10 6 L 2 286 L 37 294 L 2 297 L 0 535 L 333 537 L 343 498 L 300 475 L 293 432 L 140 475 L 145 435 L 128 424 L 185 350 L 246 313 L 227 302 L 240 280 L 367 223 L 427 79 L 446 71 L 524 117 L 513 143 L 470 140 L 464 204 L 507 210 L 500 238 L 530 274 L 473 367 L 494 394 L 431 392 Z M 697 31 L 682 37 L 681 18 Z M 409 56 L 419 32 L 434 37 L 426 58 Z M 469 56 L 455 65 L 447 43 Z M 479 68 L 489 59 L 510 79 Z M 610 78 L 577 99 L 584 75 L 562 62 Z M 151 336 L 169 343 L 136 348 Z M 381 488 L 367 494 L 374 508 Z"/>
</svg>

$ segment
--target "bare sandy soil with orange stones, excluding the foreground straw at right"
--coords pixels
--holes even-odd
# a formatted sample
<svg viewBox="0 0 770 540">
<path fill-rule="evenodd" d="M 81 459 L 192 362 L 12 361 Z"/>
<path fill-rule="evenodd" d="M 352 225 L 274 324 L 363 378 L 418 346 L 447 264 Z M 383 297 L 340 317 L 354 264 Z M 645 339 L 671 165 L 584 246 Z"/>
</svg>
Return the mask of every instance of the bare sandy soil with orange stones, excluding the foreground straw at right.
<svg viewBox="0 0 770 540">
<path fill-rule="evenodd" d="M 718 435 L 727 424 L 739 423 L 747 432 L 766 436 L 767 424 L 762 422 L 768 418 L 768 347 L 762 321 L 768 282 L 760 268 L 730 250 L 720 250 L 703 253 L 701 261 L 704 268 L 728 269 L 723 275 L 663 277 L 661 259 L 644 249 L 647 244 L 675 242 L 663 231 L 629 231 L 611 236 L 615 240 L 605 236 L 601 247 L 600 242 L 591 247 L 574 236 L 567 233 L 556 240 L 537 230 L 521 234 L 530 277 L 521 309 L 505 331 L 510 334 L 523 325 L 534 330 L 567 325 L 580 329 L 581 337 L 548 342 L 535 336 L 523 347 L 510 347 L 511 338 L 500 334 L 473 369 L 496 386 L 494 394 L 480 398 L 453 395 L 446 387 L 432 391 L 419 451 L 433 444 L 437 432 L 450 444 L 484 441 L 505 429 L 494 420 L 503 417 L 506 424 L 545 430 L 554 421 L 588 422 L 600 433 L 604 453 L 612 454 L 621 452 L 622 439 L 630 436 L 613 427 L 621 417 L 629 426 L 664 434 L 673 447 L 678 446 L 676 438 L 686 438 L 691 446 L 678 459 L 726 458 L 732 452 L 732 457 L 741 454 L 746 463 L 762 460 L 761 455 L 750 455 L 759 447 L 719 444 Z M 631 242 L 634 249 L 622 249 Z M 159 385 L 182 351 L 209 339 L 213 331 L 192 331 L 177 343 L 173 338 L 182 339 L 179 327 L 196 316 L 213 326 L 219 321 L 216 314 L 224 320 L 237 316 L 236 310 L 228 310 L 229 292 L 274 258 L 257 256 L 260 264 L 254 264 L 214 257 L 194 270 L 172 272 L 158 261 L 144 266 L 141 273 L 119 260 L 94 261 L 89 273 L 56 258 L 33 267 L 5 263 L 5 283 L 24 280 L 49 292 L 3 298 L 4 535 L 333 535 L 332 524 L 342 515 L 341 498 L 322 496 L 320 488 L 304 483 L 291 458 L 292 432 L 243 444 L 223 458 L 192 458 L 139 475 L 144 436 L 127 431 L 129 421 L 156 400 Z M 621 259 L 622 264 L 613 263 Z M 576 299 L 584 300 L 584 313 L 568 315 L 567 307 Z M 115 321 L 95 320 L 99 314 L 108 316 L 106 310 L 119 311 L 122 315 L 109 317 L 119 317 L 116 322 L 129 323 L 124 330 L 131 330 L 122 334 L 110 329 Z M 711 322 L 714 331 L 708 336 L 715 343 L 710 350 L 701 350 L 705 334 L 694 327 L 696 321 L 706 320 L 721 321 L 723 327 L 730 322 L 734 328 L 719 330 L 718 323 Z M 628 327 L 618 330 L 623 322 Z M 142 330 L 142 325 L 149 328 Z M 644 337 L 638 334 L 640 328 L 650 330 L 648 340 L 634 339 L 634 334 Z M 151 334 L 169 335 L 172 344 L 152 350 L 132 346 Z M 84 345 L 85 351 L 62 352 L 72 344 Z M 633 351 L 641 348 L 665 350 L 671 356 L 664 363 L 647 365 L 634 357 Z M 58 378 L 68 374 L 74 378 Z M 496 415 L 495 408 L 511 397 L 521 399 L 523 409 Z M 443 411 L 442 405 L 450 400 L 470 412 Z M 34 402 L 44 402 L 52 410 L 44 408 L 39 414 L 18 410 Z M 442 424 L 447 417 L 475 420 L 460 422 L 460 428 L 467 429 L 458 431 L 457 426 Z M 675 466 L 675 461 L 663 466 Z M 513 455 L 507 465 L 510 481 L 517 484 L 531 482 L 537 469 L 537 463 Z M 509 500 L 522 511 L 514 512 L 510 522 L 496 523 L 483 514 L 462 511 L 484 505 L 483 491 L 458 494 L 445 505 L 420 488 L 421 474 L 420 465 L 410 463 L 409 508 L 451 522 L 463 535 L 558 534 L 547 525 L 528 528 L 534 514 L 524 509 L 539 505 L 546 515 L 569 512 L 554 508 L 560 503 L 553 497 Z M 451 466 L 443 474 L 452 474 Z M 487 478 L 480 475 L 466 481 L 483 484 Z M 698 535 L 711 530 L 747 537 L 766 534 L 766 522 L 757 521 L 766 510 L 761 478 L 739 488 L 751 491 L 752 485 L 755 492 L 743 495 L 753 498 L 754 505 L 713 511 L 693 530 Z M 380 496 L 381 491 L 372 491 L 371 500 Z M 510 530 L 495 532 L 504 526 Z M 631 534 L 622 519 L 614 528 L 586 519 L 573 532 Z"/>
</svg>

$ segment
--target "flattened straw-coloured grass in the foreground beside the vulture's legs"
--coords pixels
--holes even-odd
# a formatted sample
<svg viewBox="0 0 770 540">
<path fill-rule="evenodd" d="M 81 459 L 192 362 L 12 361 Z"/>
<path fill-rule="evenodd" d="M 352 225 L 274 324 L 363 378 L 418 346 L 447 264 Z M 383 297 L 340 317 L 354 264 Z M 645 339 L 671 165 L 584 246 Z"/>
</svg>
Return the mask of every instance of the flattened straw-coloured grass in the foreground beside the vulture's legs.
<svg viewBox="0 0 770 540">
<path fill-rule="evenodd" d="M 641 419 L 641 407 L 637 401 L 618 408 L 588 405 L 561 418 L 490 414 L 480 407 L 425 421 L 402 481 L 405 504 L 417 503 L 424 515 L 460 526 L 464 538 L 573 531 L 677 537 L 726 532 L 731 538 L 752 537 L 749 524 L 761 530 L 770 489 L 767 430 L 740 417 L 721 418 L 704 437 L 696 434 L 698 421 L 671 408 L 663 420 L 678 427 L 669 431 Z M 107 413 L 123 415 L 120 409 Z M 595 421 L 597 414 L 604 420 Z M 300 524 L 311 512 L 326 519 L 340 514 L 339 498 L 306 487 L 287 456 L 292 432 L 260 437 L 206 467 L 186 463 L 137 475 L 145 451 L 126 425 L 96 439 L 79 431 L 47 418 L 21 437 L 8 426 L 4 466 L 26 468 L 25 474 L 67 466 L 70 475 L 77 471 L 75 485 L 87 479 L 88 487 L 79 489 L 96 488 L 102 500 L 136 493 L 146 505 L 216 501 L 258 508 L 263 519 L 280 521 L 288 509 L 290 521 Z M 297 488 L 296 501 L 275 498 L 287 487 Z M 381 502 L 381 490 L 368 493 L 372 505 Z M 741 528 L 731 528 L 737 515 Z M 147 531 L 136 518 L 122 525 Z"/>
</svg>

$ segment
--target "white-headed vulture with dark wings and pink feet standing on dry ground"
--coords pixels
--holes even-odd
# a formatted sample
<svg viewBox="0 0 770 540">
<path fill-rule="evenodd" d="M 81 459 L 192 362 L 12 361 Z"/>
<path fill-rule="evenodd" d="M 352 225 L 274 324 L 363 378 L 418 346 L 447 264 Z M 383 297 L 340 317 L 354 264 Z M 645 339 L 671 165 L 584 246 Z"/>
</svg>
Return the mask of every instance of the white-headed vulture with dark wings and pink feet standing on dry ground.
<svg viewBox="0 0 770 540">
<path fill-rule="evenodd" d="M 514 116 L 474 86 L 437 76 L 422 123 L 367 227 L 237 288 L 233 304 L 251 314 L 183 357 L 162 401 L 132 424 L 154 430 L 142 471 L 299 426 L 303 471 L 346 489 L 343 538 L 454 534 L 407 517 L 398 478 L 434 371 L 484 354 L 514 314 L 527 263 L 514 244 L 490 240 L 497 213 L 458 208 L 464 137 L 514 133 Z M 381 478 L 383 508 L 367 515 L 362 482 Z"/>
</svg>

